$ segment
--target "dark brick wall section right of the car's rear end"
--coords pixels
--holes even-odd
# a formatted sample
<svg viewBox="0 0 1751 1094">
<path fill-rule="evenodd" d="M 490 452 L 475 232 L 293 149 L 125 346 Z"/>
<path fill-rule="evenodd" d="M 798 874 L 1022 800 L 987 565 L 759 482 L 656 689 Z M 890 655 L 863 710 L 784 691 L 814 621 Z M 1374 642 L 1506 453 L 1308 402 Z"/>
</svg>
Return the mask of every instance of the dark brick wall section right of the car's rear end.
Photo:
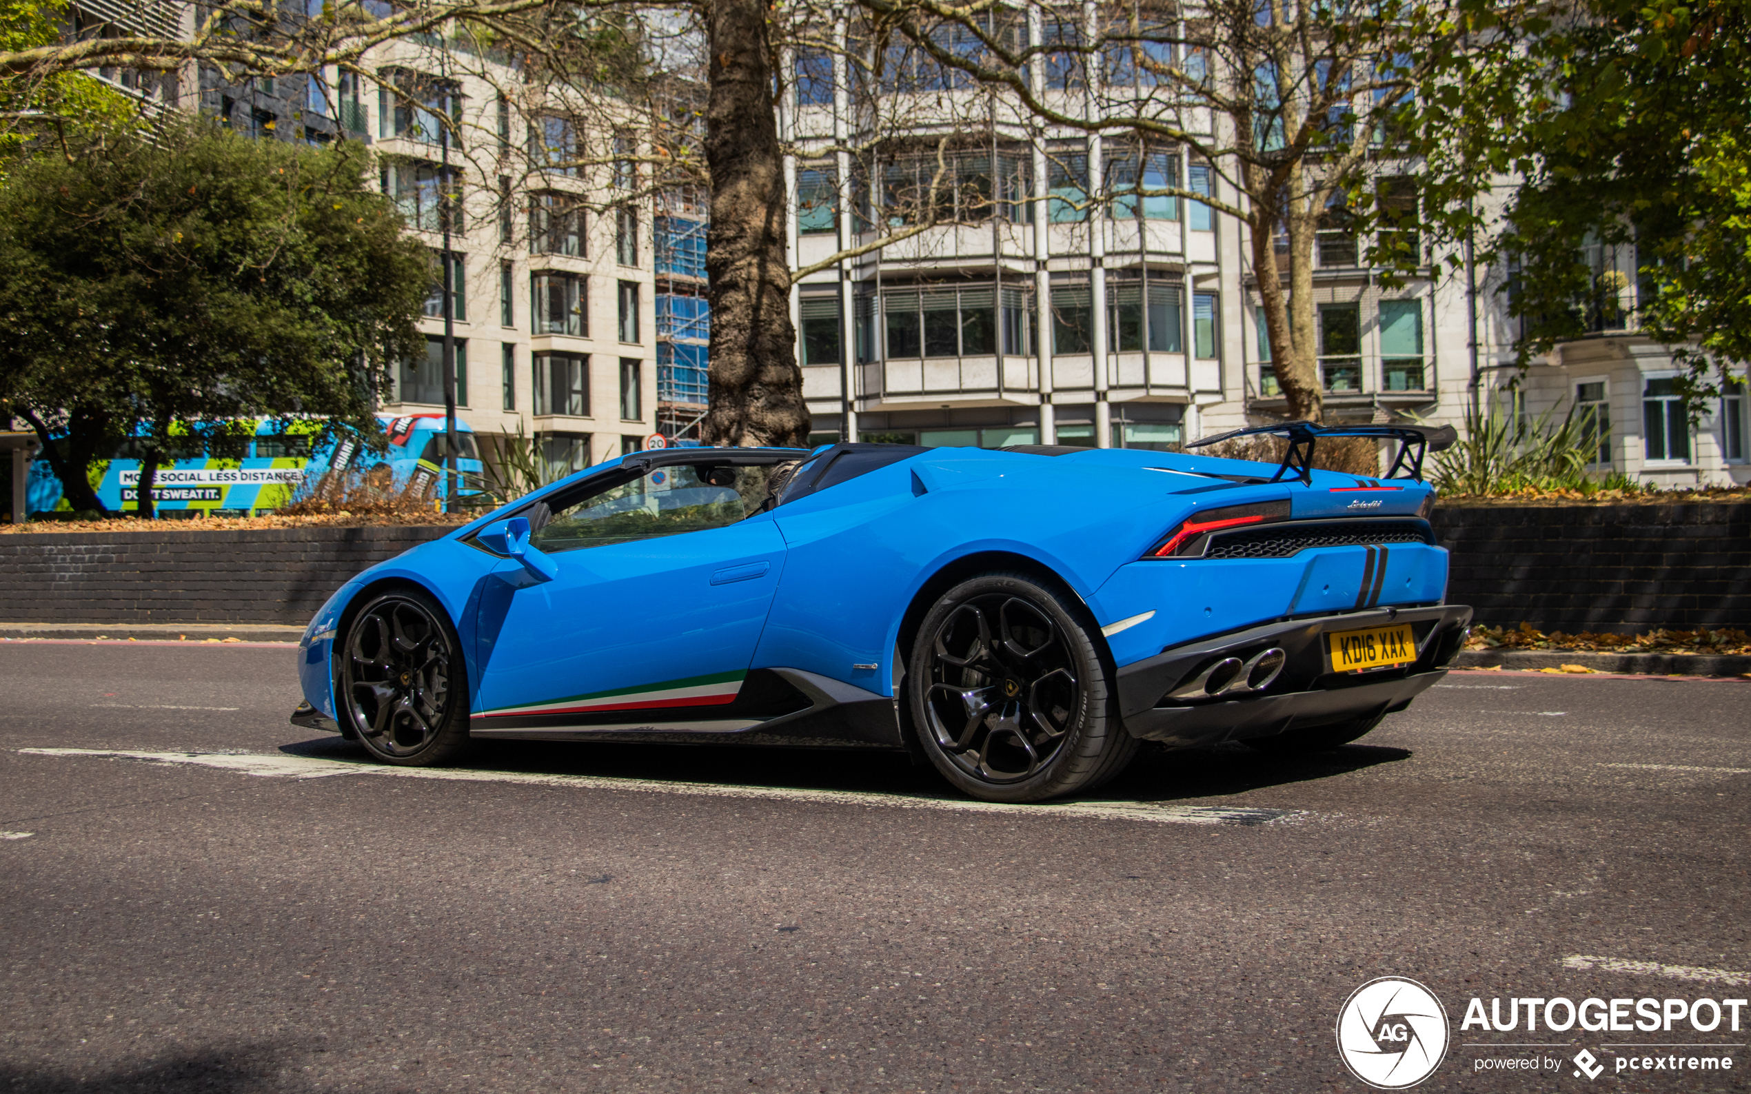
<svg viewBox="0 0 1751 1094">
<path fill-rule="evenodd" d="M 1446 599 L 1480 623 L 1751 628 L 1751 504 L 1438 508 Z"/>
</svg>

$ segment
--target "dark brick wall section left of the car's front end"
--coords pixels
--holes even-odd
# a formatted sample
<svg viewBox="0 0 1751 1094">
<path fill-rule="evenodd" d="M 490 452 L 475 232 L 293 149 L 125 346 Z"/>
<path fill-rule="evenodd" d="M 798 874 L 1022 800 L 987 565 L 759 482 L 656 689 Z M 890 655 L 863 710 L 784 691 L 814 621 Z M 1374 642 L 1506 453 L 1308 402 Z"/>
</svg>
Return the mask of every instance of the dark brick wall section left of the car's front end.
<svg viewBox="0 0 1751 1094">
<path fill-rule="evenodd" d="M 0 621 L 294 623 L 450 527 L 0 536 Z"/>
</svg>

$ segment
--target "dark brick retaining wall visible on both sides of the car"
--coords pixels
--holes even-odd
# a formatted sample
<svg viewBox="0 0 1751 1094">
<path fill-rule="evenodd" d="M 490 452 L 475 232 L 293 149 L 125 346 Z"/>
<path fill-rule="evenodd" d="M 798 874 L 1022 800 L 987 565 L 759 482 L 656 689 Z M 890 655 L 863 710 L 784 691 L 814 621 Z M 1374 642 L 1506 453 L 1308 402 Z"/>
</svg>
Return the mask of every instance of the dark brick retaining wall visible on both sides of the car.
<svg viewBox="0 0 1751 1094">
<path fill-rule="evenodd" d="M 1751 628 L 1751 504 L 1436 509 L 1448 600 L 1544 630 Z M 0 536 L 0 621 L 292 623 L 445 527 Z"/>
</svg>

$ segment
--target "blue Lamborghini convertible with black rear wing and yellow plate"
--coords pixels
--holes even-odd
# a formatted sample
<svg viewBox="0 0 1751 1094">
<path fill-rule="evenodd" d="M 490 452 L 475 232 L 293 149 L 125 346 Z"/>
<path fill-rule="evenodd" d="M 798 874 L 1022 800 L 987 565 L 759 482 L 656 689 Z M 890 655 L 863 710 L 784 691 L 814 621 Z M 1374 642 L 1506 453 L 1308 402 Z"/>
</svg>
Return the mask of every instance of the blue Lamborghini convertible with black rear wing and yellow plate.
<svg viewBox="0 0 1751 1094">
<path fill-rule="evenodd" d="M 1422 481 L 1452 431 L 1241 432 L 1283 462 L 625 455 L 347 581 L 292 721 L 401 765 L 482 737 L 905 749 L 995 802 L 1093 789 L 1140 740 L 1336 747 L 1464 641 Z M 1327 436 L 1392 469 L 1315 471 Z"/>
</svg>

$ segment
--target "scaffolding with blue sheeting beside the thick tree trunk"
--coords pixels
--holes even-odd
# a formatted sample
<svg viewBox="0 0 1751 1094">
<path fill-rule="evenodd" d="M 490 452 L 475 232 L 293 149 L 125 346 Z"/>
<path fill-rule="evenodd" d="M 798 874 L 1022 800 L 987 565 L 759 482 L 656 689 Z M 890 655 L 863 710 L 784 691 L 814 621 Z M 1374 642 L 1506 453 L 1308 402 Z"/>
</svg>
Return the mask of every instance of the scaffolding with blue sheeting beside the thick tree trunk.
<svg viewBox="0 0 1751 1094">
<path fill-rule="evenodd" d="M 657 263 L 657 431 L 699 441 L 706 417 L 711 303 L 706 299 L 704 194 L 693 187 L 657 200 L 651 240 Z"/>
</svg>

